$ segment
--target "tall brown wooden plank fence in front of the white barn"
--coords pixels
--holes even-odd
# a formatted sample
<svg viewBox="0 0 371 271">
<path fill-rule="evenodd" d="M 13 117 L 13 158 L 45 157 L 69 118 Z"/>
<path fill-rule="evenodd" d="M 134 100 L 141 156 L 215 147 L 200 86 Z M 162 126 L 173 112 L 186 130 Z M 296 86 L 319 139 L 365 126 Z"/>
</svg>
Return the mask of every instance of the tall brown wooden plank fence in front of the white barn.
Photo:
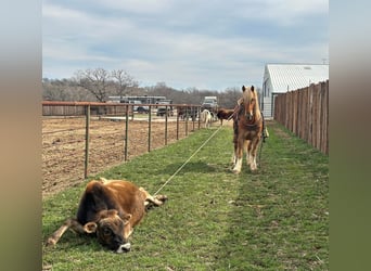
<svg viewBox="0 0 371 271">
<path fill-rule="evenodd" d="M 274 119 L 329 154 L 329 80 L 277 95 Z"/>
</svg>

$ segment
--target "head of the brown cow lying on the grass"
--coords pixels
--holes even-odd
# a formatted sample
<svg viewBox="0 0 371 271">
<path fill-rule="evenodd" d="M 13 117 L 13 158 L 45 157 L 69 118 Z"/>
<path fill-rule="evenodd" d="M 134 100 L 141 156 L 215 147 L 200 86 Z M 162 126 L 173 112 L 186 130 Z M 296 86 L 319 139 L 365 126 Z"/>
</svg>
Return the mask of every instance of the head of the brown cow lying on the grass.
<svg viewBox="0 0 371 271">
<path fill-rule="evenodd" d="M 87 233 L 97 233 L 98 241 L 116 253 L 130 250 L 130 236 L 132 229 L 129 223 L 130 214 L 118 216 L 117 210 L 102 210 L 98 214 L 97 222 L 88 222 L 84 225 Z"/>
</svg>

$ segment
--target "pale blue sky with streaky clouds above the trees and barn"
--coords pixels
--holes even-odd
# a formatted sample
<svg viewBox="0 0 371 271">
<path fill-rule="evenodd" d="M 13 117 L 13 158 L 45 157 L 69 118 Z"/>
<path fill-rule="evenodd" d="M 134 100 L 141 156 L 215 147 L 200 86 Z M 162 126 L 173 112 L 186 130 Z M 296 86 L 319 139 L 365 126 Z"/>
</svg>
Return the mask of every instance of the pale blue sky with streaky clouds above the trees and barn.
<svg viewBox="0 0 371 271">
<path fill-rule="evenodd" d="M 42 77 L 123 69 L 140 87 L 261 88 L 267 63 L 329 63 L 324 0 L 43 0 Z"/>
</svg>

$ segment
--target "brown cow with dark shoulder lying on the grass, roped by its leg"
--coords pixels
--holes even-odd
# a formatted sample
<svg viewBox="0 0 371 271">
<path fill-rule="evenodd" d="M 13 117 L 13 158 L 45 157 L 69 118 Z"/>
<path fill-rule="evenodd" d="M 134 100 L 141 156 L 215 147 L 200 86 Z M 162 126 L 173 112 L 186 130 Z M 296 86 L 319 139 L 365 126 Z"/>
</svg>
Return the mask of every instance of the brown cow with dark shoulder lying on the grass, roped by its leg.
<svg viewBox="0 0 371 271">
<path fill-rule="evenodd" d="M 98 241 L 116 253 L 130 250 L 129 236 L 150 205 L 159 206 L 167 197 L 151 196 L 144 189 L 125 180 L 90 181 L 82 194 L 77 217 L 67 219 L 47 241 L 55 245 L 71 229 L 95 233 Z"/>
</svg>

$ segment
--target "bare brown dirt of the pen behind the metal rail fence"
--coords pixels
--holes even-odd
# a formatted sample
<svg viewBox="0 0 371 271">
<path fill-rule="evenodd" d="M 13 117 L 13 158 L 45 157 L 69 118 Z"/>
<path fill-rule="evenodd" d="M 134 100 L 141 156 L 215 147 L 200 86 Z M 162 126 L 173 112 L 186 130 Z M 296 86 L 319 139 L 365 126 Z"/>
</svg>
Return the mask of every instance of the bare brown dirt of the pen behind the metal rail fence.
<svg viewBox="0 0 371 271">
<path fill-rule="evenodd" d="M 177 141 L 177 121 L 169 119 L 167 144 Z M 214 122 L 218 125 L 219 122 Z M 202 128 L 202 125 L 201 125 Z M 199 122 L 180 120 L 178 139 L 199 129 Z M 125 120 L 98 117 L 90 121 L 88 176 L 125 162 Z M 42 119 L 42 196 L 79 184 L 85 177 L 85 118 Z M 151 150 L 165 145 L 164 118 L 151 124 Z M 149 150 L 149 121 L 130 120 L 128 125 L 127 159 Z"/>
</svg>

